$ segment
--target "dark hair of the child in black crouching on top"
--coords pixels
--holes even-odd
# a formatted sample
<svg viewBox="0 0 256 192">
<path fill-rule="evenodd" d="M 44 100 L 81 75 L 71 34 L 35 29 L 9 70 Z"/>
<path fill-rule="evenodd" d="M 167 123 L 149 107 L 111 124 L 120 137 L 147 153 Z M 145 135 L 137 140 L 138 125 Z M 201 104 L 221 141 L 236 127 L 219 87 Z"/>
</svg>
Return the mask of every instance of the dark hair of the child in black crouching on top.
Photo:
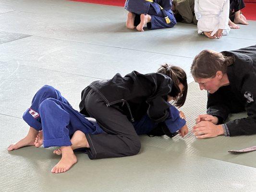
<svg viewBox="0 0 256 192">
<path fill-rule="evenodd" d="M 171 77 L 173 86 L 168 95 L 174 98 L 174 106 L 182 107 L 185 103 L 188 89 L 187 75 L 184 70 L 178 66 L 163 64 L 158 69 L 158 72 Z M 179 83 L 183 84 L 183 90 L 180 90 Z"/>
</svg>

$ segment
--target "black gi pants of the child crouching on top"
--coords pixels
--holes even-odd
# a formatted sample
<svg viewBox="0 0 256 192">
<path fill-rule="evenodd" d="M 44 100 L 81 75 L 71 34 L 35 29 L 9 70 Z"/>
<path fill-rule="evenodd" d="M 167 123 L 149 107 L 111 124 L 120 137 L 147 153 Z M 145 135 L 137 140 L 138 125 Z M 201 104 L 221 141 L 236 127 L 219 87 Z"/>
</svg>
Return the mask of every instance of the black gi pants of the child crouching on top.
<svg viewBox="0 0 256 192">
<path fill-rule="evenodd" d="M 88 115 L 95 118 L 106 132 L 86 134 L 90 148 L 86 150 L 90 159 L 136 155 L 141 148 L 140 139 L 118 106 L 107 107 L 101 96 L 87 88 L 85 109 Z M 114 93 L 113 93 L 114 94 Z"/>
</svg>

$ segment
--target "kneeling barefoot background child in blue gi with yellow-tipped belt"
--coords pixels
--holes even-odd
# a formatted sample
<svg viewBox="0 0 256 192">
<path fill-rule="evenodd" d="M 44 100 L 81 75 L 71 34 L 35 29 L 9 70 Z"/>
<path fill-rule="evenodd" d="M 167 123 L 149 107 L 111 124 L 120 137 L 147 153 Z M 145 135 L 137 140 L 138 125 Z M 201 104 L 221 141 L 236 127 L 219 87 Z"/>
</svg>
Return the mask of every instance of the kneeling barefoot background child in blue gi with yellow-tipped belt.
<svg viewBox="0 0 256 192">
<path fill-rule="evenodd" d="M 171 0 L 126 0 L 124 8 L 128 11 L 126 27 L 144 31 L 148 29 L 170 28 L 176 24 L 171 11 Z"/>
</svg>

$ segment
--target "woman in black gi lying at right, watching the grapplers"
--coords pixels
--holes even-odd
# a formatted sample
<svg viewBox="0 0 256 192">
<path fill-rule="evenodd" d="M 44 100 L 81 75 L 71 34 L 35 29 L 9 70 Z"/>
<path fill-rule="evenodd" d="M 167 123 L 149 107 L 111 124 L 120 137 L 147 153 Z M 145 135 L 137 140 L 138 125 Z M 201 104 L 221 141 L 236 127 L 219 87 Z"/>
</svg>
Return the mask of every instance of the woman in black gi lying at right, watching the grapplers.
<svg viewBox="0 0 256 192">
<path fill-rule="evenodd" d="M 191 73 L 208 92 L 207 114 L 198 116 L 193 129 L 197 138 L 256 134 L 256 45 L 220 53 L 203 50 Z M 225 122 L 230 113 L 242 111 L 247 118 Z"/>
</svg>

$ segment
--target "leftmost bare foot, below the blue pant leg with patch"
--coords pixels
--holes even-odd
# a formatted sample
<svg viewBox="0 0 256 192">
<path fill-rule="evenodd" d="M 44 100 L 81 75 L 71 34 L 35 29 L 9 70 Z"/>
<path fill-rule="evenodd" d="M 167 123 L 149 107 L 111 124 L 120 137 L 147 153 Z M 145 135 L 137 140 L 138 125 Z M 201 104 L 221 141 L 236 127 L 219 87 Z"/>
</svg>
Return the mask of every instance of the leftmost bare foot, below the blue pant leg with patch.
<svg viewBox="0 0 256 192">
<path fill-rule="evenodd" d="M 37 136 L 38 131 L 35 130 L 34 128 L 30 127 L 29 131 L 27 133 L 27 136 L 25 136 L 23 139 L 18 141 L 15 144 L 10 144 L 9 147 L 7 148 L 8 151 L 12 151 L 15 149 L 19 149 L 24 146 L 32 146 L 35 145 L 35 138 Z"/>
</svg>

